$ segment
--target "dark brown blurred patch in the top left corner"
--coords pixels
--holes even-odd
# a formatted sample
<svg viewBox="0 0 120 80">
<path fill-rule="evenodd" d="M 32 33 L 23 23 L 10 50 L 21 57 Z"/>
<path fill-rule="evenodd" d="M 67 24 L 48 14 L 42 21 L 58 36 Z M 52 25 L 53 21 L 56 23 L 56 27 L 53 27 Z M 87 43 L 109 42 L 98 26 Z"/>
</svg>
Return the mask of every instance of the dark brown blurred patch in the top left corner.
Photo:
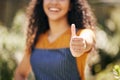
<svg viewBox="0 0 120 80">
<path fill-rule="evenodd" d="M 0 0 L 0 22 L 2 25 L 12 27 L 12 21 L 18 10 L 25 8 L 29 0 Z"/>
</svg>

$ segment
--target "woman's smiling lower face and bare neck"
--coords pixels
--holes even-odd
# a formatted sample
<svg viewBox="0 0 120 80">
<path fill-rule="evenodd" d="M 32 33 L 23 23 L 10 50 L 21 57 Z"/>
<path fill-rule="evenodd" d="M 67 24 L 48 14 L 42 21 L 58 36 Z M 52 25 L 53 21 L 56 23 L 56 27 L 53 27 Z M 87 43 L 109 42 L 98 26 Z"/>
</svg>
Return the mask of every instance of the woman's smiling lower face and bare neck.
<svg viewBox="0 0 120 80">
<path fill-rule="evenodd" d="M 53 42 L 70 27 L 67 21 L 70 0 L 44 0 L 43 8 L 50 26 L 48 40 Z"/>
</svg>

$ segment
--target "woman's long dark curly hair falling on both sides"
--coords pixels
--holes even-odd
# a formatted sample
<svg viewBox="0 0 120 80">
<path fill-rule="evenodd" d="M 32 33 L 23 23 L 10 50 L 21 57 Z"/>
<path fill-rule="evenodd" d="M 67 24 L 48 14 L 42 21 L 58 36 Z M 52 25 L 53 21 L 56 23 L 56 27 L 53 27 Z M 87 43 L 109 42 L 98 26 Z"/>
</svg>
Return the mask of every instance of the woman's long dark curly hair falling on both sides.
<svg viewBox="0 0 120 80">
<path fill-rule="evenodd" d="M 96 20 L 86 0 L 70 0 L 71 10 L 68 12 L 68 23 L 74 23 L 77 29 L 94 30 Z M 31 0 L 27 9 L 28 27 L 26 50 L 30 53 L 40 34 L 49 29 L 48 19 L 43 10 L 43 0 Z"/>
</svg>

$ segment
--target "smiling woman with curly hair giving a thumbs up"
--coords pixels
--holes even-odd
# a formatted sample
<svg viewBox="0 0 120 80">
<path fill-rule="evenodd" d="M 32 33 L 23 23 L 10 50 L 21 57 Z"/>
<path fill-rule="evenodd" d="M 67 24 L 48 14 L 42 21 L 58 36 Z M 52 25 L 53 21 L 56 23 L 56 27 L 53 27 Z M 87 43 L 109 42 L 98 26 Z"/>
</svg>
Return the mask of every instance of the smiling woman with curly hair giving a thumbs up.
<svg viewBox="0 0 120 80">
<path fill-rule="evenodd" d="M 26 51 L 15 72 L 25 80 L 85 80 L 88 53 L 95 43 L 94 17 L 86 0 L 32 0 Z"/>
</svg>

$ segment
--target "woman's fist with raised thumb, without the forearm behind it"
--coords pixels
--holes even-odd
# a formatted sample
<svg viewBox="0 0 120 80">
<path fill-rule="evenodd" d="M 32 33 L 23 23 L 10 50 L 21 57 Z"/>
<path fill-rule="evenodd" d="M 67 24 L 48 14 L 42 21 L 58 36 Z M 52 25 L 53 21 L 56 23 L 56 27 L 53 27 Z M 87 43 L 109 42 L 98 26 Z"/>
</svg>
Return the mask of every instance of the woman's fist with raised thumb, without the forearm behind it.
<svg viewBox="0 0 120 80">
<path fill-rule="evenodd" d="M 71 34 L 70 51 L 74 57 L 79 57 L 85 52 L 86 41 L 82 37 L 76 35 L 75 24 L 71 25 Z"/>
</svg>

